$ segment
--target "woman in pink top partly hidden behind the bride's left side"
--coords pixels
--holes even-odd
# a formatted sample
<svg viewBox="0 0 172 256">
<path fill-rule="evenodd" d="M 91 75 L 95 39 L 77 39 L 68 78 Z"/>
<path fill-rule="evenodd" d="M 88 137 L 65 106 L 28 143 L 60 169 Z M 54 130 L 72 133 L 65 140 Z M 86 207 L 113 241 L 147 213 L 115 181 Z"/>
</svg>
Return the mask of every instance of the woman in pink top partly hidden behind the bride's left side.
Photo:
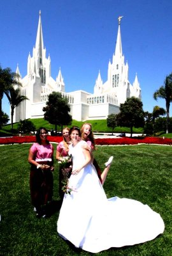
<svg viewBox="0 0 172 256">
<path fill-rule="evenodd" d="M 71 139 L 69 137 L 69 128 L 65 127 L 62 129 L 62 138 L 63 140 L 57 145 L 56 150 L 56 160 L 59 162 L 64 161 L 68 157 L 69 152 L 69 145 L 71 144 Z M 70 163 L 69 163 L 70 165 Z M 59 168 L 59 196 L 61 197 L 61 200 L 64 197 L 64 192 L 62 191 L 62 187 L 64 186 L 64 180 L 68 179 L 71 175 L 71 168 L 66 168 L 65 170 L 63 168 Z"/>
</svg>

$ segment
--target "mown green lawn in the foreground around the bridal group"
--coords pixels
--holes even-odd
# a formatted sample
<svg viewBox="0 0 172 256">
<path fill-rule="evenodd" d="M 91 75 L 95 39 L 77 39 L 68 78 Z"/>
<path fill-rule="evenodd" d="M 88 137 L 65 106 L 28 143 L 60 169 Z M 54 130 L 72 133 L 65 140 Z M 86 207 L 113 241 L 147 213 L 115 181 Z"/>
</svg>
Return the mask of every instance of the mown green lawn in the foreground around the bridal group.
<svg viewBox="0 0 172 256">
<path fill-rule="evenodd" d="M 29 195 L 27 156 L 30 147 L 30 144 L 0 146 L 0 254 L 2 256 L 94 255 L 75 250 L 58 236 L 58 204 L 55 204 L 55 211 L 50 218 L 36 218 Z M 56 148 L 55 144 L 54 148 Z M 153 241 L 124 248 L 110 248 L 96 255 L 172 255 L 171 153 L 171 147 L 159 145 L 97 146 L 94 156 L 102 169 L 108 157 L 114 156 L 104 183 L 107 196 L 133 198 L 150 205 L 154 211 L 161 214 L 166 228 L 164 234 Z M 58 164 L 56 162 L 54 200 L 58 203 Z M 72 209 L 69 209 L 69 218 L 70 211 Z"/>
</svg>

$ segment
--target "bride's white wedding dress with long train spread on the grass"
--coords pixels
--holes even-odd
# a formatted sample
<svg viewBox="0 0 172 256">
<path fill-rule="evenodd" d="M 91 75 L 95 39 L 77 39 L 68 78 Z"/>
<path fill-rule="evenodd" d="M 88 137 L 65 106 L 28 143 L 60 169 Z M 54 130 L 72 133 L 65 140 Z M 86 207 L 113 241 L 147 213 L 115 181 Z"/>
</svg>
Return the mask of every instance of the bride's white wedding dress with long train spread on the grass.
<svg viewBox="0 0 172 256">
<path fill-rule="evenodd" d="M 80 141 L 69 146 L 73 169 L 84 161 Z M 164 221 L 148 205 L 127 198 L 106 198 L 92 164 L 69 178 L 71 195 L 65 194 L 57 232 L 85 251 L 97 253 L 111 247 L 144 243 L 164 232 Z"/>
</svg>

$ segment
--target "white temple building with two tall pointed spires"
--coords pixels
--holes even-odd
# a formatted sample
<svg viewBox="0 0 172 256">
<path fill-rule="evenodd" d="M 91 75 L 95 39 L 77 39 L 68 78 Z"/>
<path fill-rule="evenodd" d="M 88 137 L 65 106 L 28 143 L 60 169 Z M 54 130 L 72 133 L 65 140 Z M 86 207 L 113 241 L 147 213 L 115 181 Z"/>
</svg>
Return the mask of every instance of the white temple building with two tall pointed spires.
<svg viewBox="0 0 172 256">
<path fill-rule="evenodd" d="M 122 54 L 121 18 L 118 17 L 117 42 L 115 53 L 108 63 L 107 81 L 103 83 L 99 72 L 94 85 L 94 93 L 83 90 L 66 93 L 61 69 L 55 80 L 51 77 L 51 60 L 50 56 L 46 57 L 41 12 L 39 12 L 36 44 L 32 50 L 32 56 L 30 53 L 28 56 L 27 75 L 24 78 L 20 76 L 21 95 L 25 95 L 29 100 L 24 100 L 15 108 L 14 122 L 27 118 L 43 118 L 42 109 L 48 100 L 48 95 L 52 92 L 61 92 L 62 97 L 67 97 L 71 107 L 70 114 L 74 120 L 78 121 L 106 119 L 111 113 L 117 114 L 120 103 L 124 103 L 127 98 L 134 96 L 141 99 L 137 75 L 133 85 L 128 80 L 129 66 L 124 62 Z M 20 75 L 18 66 L 16 72 Z"/>
</svg>

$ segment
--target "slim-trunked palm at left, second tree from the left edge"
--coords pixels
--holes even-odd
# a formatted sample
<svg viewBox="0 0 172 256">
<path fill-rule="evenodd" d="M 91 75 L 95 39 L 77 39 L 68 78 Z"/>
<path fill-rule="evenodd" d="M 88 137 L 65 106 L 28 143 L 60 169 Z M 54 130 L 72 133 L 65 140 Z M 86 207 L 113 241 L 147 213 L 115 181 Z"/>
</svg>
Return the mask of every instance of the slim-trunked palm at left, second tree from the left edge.
<svg viewBox="0 0 172 256">
<path fill-rule="evenodd" d="M 13 115 L 14 115 L 14 109 L 23 101 L 28 100 L 28 98 L 24 95 L 20 95 L 20 88 L 13 88 L 11 87 L 9 89 L 9 93 L 6 95 L 8 97 L 8 100 L 10 102 L 11 106 L 11 131 L 13 131 Z"/>
</svg>

